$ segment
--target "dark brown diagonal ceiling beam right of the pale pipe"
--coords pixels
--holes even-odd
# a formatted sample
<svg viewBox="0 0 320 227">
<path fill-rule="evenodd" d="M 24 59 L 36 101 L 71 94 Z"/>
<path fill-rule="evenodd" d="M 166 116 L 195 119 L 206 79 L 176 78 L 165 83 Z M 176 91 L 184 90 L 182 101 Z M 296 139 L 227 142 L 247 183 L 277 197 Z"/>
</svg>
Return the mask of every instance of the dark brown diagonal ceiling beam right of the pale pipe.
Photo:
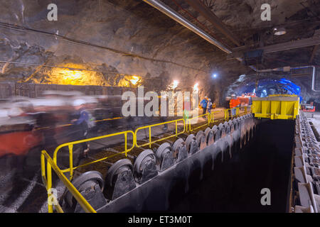
<svg viewBox="0 0 320 227">
<path fill-rule="evenodd" d="M 229 40 L 233 41 L 235 45 L 240 46 L 241 40 L 235 37 L 235 35 L 225 26 L 225 24 L 220 21 L 218 16 L 215 16 L 215 13 L 211 11 L 206 5 L 204 5 L 200 0 L 186 0 L 188 4 L 193 8 L 196 9 L 206 20 L 210 21 L 212 25 L 223 33 Z"/>
</svg>

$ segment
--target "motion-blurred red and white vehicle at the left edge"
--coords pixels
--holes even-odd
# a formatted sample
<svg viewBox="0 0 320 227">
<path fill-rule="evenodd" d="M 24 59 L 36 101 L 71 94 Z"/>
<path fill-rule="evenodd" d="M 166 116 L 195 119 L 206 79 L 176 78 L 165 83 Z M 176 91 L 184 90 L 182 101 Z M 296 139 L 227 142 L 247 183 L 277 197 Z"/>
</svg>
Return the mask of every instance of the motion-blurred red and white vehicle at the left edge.
<svg viewBox="0 0 320 227">
<path fill-rule="evenodd" d="M 95 113 L 102 97 L 81 92 L 45 91 L 39 98 L 13 96 L 0 101 L 0 157 L 26 155 L 38 147 L 50 148 L 77 139 L 70 118 L 75 99 L 85 100 L 86 109 Z M 102 102 L 103 103 L 103 102 Z M 100 108 L 101 109 L 101 108 Z M 107 112 L 107 111 L 104 111 Z"/>
</svg>

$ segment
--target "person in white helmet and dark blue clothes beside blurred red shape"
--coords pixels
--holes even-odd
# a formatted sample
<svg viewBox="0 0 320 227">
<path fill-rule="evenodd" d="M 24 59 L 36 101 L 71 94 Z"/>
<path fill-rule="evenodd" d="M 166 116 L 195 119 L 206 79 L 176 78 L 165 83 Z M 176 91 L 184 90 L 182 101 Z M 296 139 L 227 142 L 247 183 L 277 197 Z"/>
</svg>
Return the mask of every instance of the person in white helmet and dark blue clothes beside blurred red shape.
<svg viewBox="0 0 320 227">
<path fill-rule="evenodd" d="M 79 140 L 85 140 L 87 138 L 87 133 L 89 131 L 89 121 L 90 115 L 85 110 L 85 100 L 76 99 L 73 101 L 73 106 L 76 111 L 78 111 L 79 118 L 73 119 L 71 122 L 74 126 L 78 126 L 78 131 L 80 132 Z M 89 151 L 88 143 L 81 143 L 83 149 L 83 155 L 86 157 Z"/>
</svg>

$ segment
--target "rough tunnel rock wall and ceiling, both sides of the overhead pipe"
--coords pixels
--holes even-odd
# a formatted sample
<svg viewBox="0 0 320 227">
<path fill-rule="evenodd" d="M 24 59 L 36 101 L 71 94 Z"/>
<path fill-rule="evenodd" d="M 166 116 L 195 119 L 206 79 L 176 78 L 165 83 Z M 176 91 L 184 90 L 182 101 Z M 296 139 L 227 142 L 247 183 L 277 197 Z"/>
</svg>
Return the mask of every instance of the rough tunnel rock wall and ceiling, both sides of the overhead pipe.
<svg viewBox="0 0 320 227">
<path fill-rule="evenodd" d="M 181 9 L 188 9 L 209 26 L 186 2 L 176 0 L 180 9 L 173 1 L 163 1 L 187 18 Z M 289 8 L 288 2 L 292 3 Z M 309 16 L 310 12 L 303 11 L 297 2 L 272 3 L 275 21 L 267 24 L 259 19 L 260 3 L 256 1 L 217 0 L 211 9 L 245 44 L 256 42 L 255 34 L 259 33 L 265 45 L 270 45 L 274 38 L 267 29 L 272 24 Z M 240 74 L 252 74 L 250 68 L 237 60 L 226 60 L 224 52 L 143 1 L 56 0 L 58 21 L 48 21 L 47 7 L 51 3 L 1 1 L 1 82 L 144 85 L 149 90 L 164 90 L 178 80 L 178 89 L 191 90 L 198 83 L 201 98 L 207 95 L 219 104 Z M 317 13 L 316 9 L 311 13 Z M 194 18 L 188 19 L 197 24 Z M 304 36 L 311 35 L 313 29 L 314 26 L 308 28 Z M 235 47 L 220 33 L 213 33 L 230 48 Z M 301 37 L 289 29 L 288 33 Z M 284 39 L 280 37 L 275 42 L 289 40 Z M 318 55 L 315 60 L 319 60 Z M 213 79 L 213 73 L 218 77 Z"/>
</svg>

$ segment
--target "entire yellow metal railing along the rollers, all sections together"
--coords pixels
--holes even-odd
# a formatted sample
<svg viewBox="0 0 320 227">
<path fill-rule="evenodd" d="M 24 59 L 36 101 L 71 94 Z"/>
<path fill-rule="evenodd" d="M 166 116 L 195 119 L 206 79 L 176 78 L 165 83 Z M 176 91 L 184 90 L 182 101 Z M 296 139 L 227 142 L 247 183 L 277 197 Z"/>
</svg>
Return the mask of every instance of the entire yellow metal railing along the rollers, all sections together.
<svg viewBox="0 0 320 227">
<path fill-rule="evenodd" d="M 78 169 L 79 167 L 84 167 L 87 165 L 91 165 L 95 162 L 100 162 L 102 160 L 106 160 L 107 158 L 110 157 L 114 157 L 116 155 L 120 155 L 120 154 L 125 154 L 127 157 L 127 153 L 132 150 L 134 147 L 142 147 L 142 146 L 146 146 L 149 145 L 149 147 L 151 148 L 151 145 L 153 143 L 159 142 L 161 140 L 166 140 L 168 138 L 172 138 L 172 137 L 177 137 L 180 134 L 185 133 L 185 131 L 191 132 L 194 131 L 198 128 L 201 128 L 203 126 L 209 126 L 210 123 L 214 123 L 215 118 L 214 118 L 214 114 L 218 113 L 221 111 L 212 111 L 210 114 L 203 114 L 200 116 L 196 116 L 193 118 L 189 118 L 186 121 L 181 118 L 181 119 L 176 119 L 174 121 L 166 121 L 163 123 L 156 123 L 150 126 L 142 126 L 136 129 L 136 131 L 123 131 L 123 132 L 119 132 L 119 133 L 112 133 L 112 134 L 108 134 L 108 135 L 102 135 L 102 136 L 97 136 L 95 138 L 88 138 L 85 140 L 77 140 L 77 141 L 73 141 L 70 143 L 63 143 L 62 145 L 59 145 L 57 148 L 55 148 L 55 151 L 53 153 L 53 158 L 50 157 L 50 155 L 48 155 L 48 153 L 46 152 L 46 150 L 42 150 L 41 152 L 41 175 L 42 175 L 42 179 L 43 179 L 43 184 L 45 184 L 46 189 L 48 191 L 48 200 L 49 198 L 53 199 L 56 201 L 55 196 L 50 192 L 50 189 L 52 188 L 52 169 L 55 171 L 56 175 L 58 175 L 58 177 L 60 178 L 60 180 L 63 182 L 63 184 L 65 184 L 65 187 L 68 188 L 68 190 L 71 192 L 71 194 L 73 194 L 73 196 L 75 197 L 75 199 L 78 201 L 78 203 L 80 204 L 80 206 L 82 206 L 82 209 L 84 209 L 86 212 L 96 212 L 95 209 L 92 208 L 92 206 L 87 202 L 87 200 L 85 198 L 83 198 L 83 196 L 80 194 L 80 192 L 78 192 L 77 189 L 75 189 L 75 187 L 73 186 L 73 184 L 70 182 L 73 179 L 73 170 Z M 247 112 L 247 108 L 245 107 L 245 114 Z M 208 121 L 206 121 L 205 124 L 198 126 L 197 128 L 191 128 L 191 120 L 196 119 L 196 118 L 200 118 L 206 116 L 208 118 Z M 183 131 L 178 132 L 178 122 L 181 121 L 183 123 Z M 175 123 L 176 126 L 176 133 L 174 133 L 173 135 L 169 135 L 166 136 L 165 138 L 160 138 L 157 140 L 151 140 L 151 128 L 156 127 L 156 126 L 162 126 L 164 124 L 169 124 L 169 123 Z M 149 142 L 148 143 L 144 143 L 142 145 L 139 145 L 137 143 L 137 134 L 140 130 L 144 129 L 144 128 L 148 128 L 149 129 Z M 132 146 L 128 149 L 127 148 L 127 138 L 128 138 L 128 134 L 132 134 Z M 124 135 L 124 151 L 121 153 L 116 153 L 114 155 L 110 155 L 107 157 L 102 157 L 99 160 L 95 160 L 92 162 L 87 162 L 83 165 L 78 165 L 76 167 L 73 167 L 73 145 L 75 144 L 79 144 L 79 143 L 87 143 L 90 142 L 92 140 L 100 140 L 102 138 L 110 138 L 112 136 L 116 136 L 116 135 Z M 58 155 L 58 151 L 63 148 L 63 147 L 67 147 L 69 148 L 69 165 L 70 167 L 68 169 L 65 170 L 60 170 L 60 168 L 57 165 L 57 155 Z M 45 162 L 47 160 L 47 163 Z M 46 165 L 47 164 L 47 165 Z M 70 172 L 70 179 L 68 179 L 67 177 L 65 177 L 64 173 L 65 172 Z M 62 213 L 63 210 L 61 209 L 60 205 L 58 204 L 58 202 L 54 203 L 54 205 L 50 205 L 48 203 L 48 212 L 49 213 L 53 213 L 53 206 L 55 207 L 55 210 Z"/>
</svg>

